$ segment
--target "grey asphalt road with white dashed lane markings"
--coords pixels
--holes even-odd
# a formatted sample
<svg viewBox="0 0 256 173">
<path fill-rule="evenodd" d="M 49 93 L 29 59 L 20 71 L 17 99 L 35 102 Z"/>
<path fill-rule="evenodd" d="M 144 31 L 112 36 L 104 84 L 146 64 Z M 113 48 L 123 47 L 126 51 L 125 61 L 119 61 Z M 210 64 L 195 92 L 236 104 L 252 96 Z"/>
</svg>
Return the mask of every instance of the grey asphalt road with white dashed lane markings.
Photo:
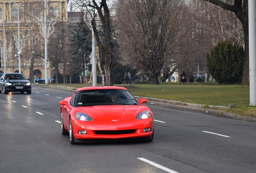
<svg viewBox="0 0 256 173">
<path fill-rule="evenodd" d="M 161 107 L 152 142 L 71 145 L 60 105 L 70 91 L 0 94 L 0 173 L 254 173 L 256 123 Z"/>
</svg>

